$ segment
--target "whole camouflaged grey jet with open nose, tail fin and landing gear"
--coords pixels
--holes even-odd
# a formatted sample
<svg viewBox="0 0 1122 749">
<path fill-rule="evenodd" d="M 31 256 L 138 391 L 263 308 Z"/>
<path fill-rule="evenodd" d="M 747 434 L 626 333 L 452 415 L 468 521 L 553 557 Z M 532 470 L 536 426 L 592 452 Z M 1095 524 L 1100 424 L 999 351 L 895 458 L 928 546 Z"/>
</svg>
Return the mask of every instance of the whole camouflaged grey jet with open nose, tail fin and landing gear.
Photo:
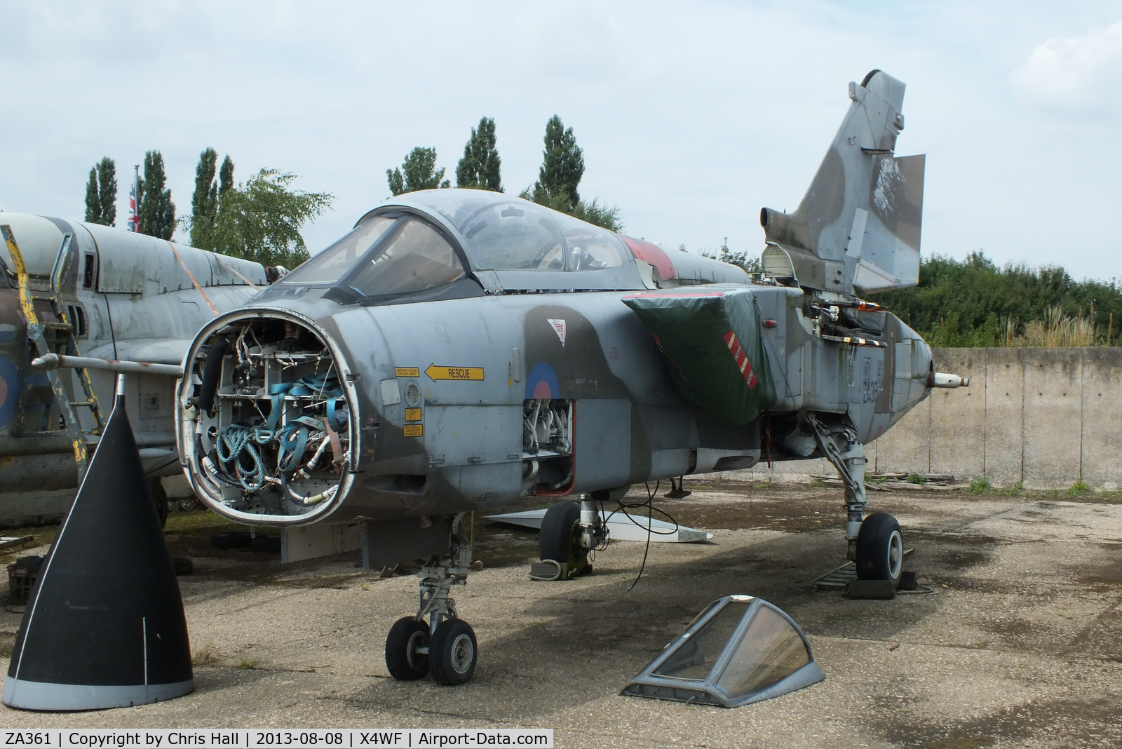
<svg viewBox="0 0 1122 749">
<path fill-rule="evenodd" d="M 899 526 L 863 530 L 862 444 L 960 381 L 861 298 L 918 280 L 923 157 L 894 156 L 903 84 L 874 71 L 849 98 L 799 209 L 762 212 L 756 277 L 498 193 L 376 207 L 195 337 L 176 427 L 192 486 L 239 523 L 366 524 L 392 529 L 383 562 L 435 555 L 430 602 L 403 620 L 431 617 L 430 660 L 467 637 L 438 637 L 470 560 L 459 514 L 519 497 L 580 500 L 543 521 L 564 577 L 631 484 L 824 456 L 863 575 L 896 579 Z M 399 623 L 387 662 L 416 677 Z M 453 662 L 434 676 L 463 678 Z"/>
</svg>

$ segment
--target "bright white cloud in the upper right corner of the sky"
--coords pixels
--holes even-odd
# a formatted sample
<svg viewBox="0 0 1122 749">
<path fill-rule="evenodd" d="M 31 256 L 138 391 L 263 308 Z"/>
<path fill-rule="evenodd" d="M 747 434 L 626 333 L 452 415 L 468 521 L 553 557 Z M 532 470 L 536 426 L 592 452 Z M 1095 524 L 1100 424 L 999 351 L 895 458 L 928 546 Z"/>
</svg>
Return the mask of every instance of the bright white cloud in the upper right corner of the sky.
<svg viewBox="0 0 1122 749">
<path fill-rule="evenodd" d="M 1122 21 L 1083 36 L 1048 39 L 1010 76 L 1028 103 L 1061 111 L 1118 111 L 1122 99 Z"/>
</svg>

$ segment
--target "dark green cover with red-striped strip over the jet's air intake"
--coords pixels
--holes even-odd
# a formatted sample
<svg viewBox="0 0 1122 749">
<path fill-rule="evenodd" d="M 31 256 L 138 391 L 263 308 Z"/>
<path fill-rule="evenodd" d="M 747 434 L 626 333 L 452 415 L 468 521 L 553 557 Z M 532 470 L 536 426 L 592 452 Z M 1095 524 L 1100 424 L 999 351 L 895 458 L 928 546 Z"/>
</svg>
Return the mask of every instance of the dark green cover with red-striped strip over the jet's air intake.
<svg viewBox="0 0 1122 749">
<path fill-rule="evenodd" d="M 623 302 L 654 335 L 678 390 L 714 418 L 748 424 L 775 403 L 752 289 L 646 292 Z"/>
</svg>

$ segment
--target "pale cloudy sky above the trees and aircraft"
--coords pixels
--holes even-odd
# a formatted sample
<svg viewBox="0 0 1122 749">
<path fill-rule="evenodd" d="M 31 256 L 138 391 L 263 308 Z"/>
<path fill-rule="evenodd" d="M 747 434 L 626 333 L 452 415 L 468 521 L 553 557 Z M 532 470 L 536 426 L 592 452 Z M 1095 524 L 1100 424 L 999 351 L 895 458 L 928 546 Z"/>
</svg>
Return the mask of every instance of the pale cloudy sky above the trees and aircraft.
<svg viewBox="0 0 1122 749">
<path fill-rule="evenodd" d="M 36 2 L 0 0 L 0 210 L 81 219 L 90 167 L 159 149 L 180 213 L 199 152 L 330 192 L 315 251 L 388 196 L 414 146 L 453 177 L 496 120 L 507 192 L 545 121 L 585 149 L 581 196 L 627 233 L 762 247 L 879 67 L 908 84 L 898 154 L 928 154 L 923 253 L 1119 271 L 1122 3 Z"/>
</svg>

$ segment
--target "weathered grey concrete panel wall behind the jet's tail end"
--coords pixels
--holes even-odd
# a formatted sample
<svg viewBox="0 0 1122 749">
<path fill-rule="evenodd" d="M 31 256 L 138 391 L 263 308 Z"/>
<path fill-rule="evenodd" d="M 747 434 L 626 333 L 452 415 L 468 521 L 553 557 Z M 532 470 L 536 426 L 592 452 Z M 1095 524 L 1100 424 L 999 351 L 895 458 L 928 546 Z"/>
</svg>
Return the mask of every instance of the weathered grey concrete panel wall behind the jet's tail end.
<svg viewBox="0 0 1122 749">
<path fill-rule="evenodd" d="M 971 387 L 932 390 L 871 446 L 871 469 L 1030 489 L 1122 486 L 1122 348 L 936 349 L 935 366 Z"/>
</svg>

